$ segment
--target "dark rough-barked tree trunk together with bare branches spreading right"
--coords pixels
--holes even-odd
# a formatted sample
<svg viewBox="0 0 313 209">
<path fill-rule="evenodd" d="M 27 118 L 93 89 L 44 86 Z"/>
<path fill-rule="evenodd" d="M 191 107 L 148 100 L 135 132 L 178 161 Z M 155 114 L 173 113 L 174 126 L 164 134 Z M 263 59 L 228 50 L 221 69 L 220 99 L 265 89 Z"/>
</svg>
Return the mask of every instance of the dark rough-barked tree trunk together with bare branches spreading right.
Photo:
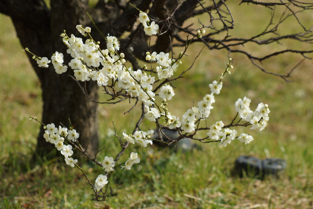
<svg viewBox="0 0 313 209">
<path fill-rule="evenodd" d="M 203 35 L 202 38 L 193 39 L 192 43 L 202 42 L 209 50 L 226 49 L 229 54 L 244 54 L 261 71 L 279 76 L 285 81 L 288 81 L 287 79 L 294 69 L 285 75 L 278 74 L 264 69 L 261 65 L 262 61 L 284 53 L 301 54 L 306 59 L 308 54 L 313 53 L 313 50 L 292 50 L 288 49 L 287 46 L 286 50 L 257 57 L 249 51 L 236 48 L 239 45 L 248 43 L 271 44 L 283 39 L 312 44 L 313 26 L 305 28 L 297 17 L 300 12 L 313 9 L 313 3 L 311 2 L 301 3 L 299 0 L 284 0 L 280 3 L 264 3 L 254 0 L 242 0 L 240 4 L 256 4 L 264 7 L 264 9 L 273 9 L 275 6 L 279 6 L 284 7 L 289 12 L 283 13 L 280 21 L 276 24 L 273 24 L 271 19 L 262 33 L 250 38 L 237 38 L 228 35 L 228 31 L 234 29 L 235 24 L 231 11 L 225 3 L 226 0 L 212 0 L 207 1 L 206 4 L 202 0 L 110 0 L 106 2 L 105 0 L 99 0 L 96 7 L 91 9 L 88 7 L 88 0 L 51 0 L 51 9 L 49 10 L 43 0 L 0 0 L 0 12 L 12 18 L 23 47 L 28 47 L 38 56 L 48 58 L 58 50 L 64 54 L 65 60 L 69 60 L 70 56 L 66 53 L 66 47 L 59 35 L 64 29 L 67 34 L 78 35 L 75 28 L 77 24 L 89 26 L 92 31 L 96 31 L 85 13 L 87 11 L 104 36 L 110 34 L 119 38 L 124 32 L 130 32 L 127 38 L 120 39 L 120 51 L 125 54 L 126 59 L 131 62 L 135 71 L 141 69 L 136 58 L 145 60 L 147 51 L 169 52 L 172 47 L 185 46 L 186 34 L 196 36 L 195 31 L 199 28 L 192 25 L 183 28 L 183 23 L 188 18 L 203 13 L 208 15 L 210 25 L 205 26 L 200 23 L 202 24 L 200 28 L 206 29 L 208 33 Z M 149 36 L 145 35 L 142 26 L 140 24 L 134 25 L 139 12 L 129 3 L 141 11 L 147 11 L 149 17 L 160 26 L 159 34 L 156 36 L 156 44 L 153 46 L 149 46 Z M 274 16 L 274 13 L 272 14 Z M 273 16 L 270 18 L 273 18 Z M 295 34 L 279 35 L 277 30 L 282 27 L 282 22 L 287 18 L 294 18 L 303 30 Z M 216 25 L 218 24 L 215 22 L 220 22 L 223 26 L 217 28 Z M 217 34 L 222 33 L 225 34 L 224 37 L 221 39 L 215 38 Z M 266 38 L 268 36 L 265 35 L 268 34 L 271 35 L 270 38 Z M 93 33 L 92 35 L 96 41 L 101 42 L 100 47 L 105 48 L 103 36 L 100 33 Z M 174 39 L 176 39 L 176 44 L 172 44 Z M 70 118 L 72 125 L 80 133 L 81 144 L 83 147 L 87 147 L 89 154 L 94 155 L 99 141 L 97 103 L 91 102 L 83 95 L 76 81 L 68 76 L 73 74 L 73 71 L 68 70 L 66 73 L 58 75 L 54 72 L 53 66 L 48 69 L 40 69 L 30 54 L 28 54 L 28 57 L 38 75 L 43 90 L 43 123 L 58 125 L 61 122 L 67 126 L 68 118 Z M 170 81 L 166 80 L 163 83 L 167 82 Z M 90 99 L 97 100 L 96 82 L 86 82 L 82 86 L 85 85 L 85 93 L 89 95 Z M 110 95 L 112 96 L 113 93 Z M 115 96 L 112 97 L 115 98 Z M 42 137 L 43 133 L 44 129 L 41 127 L 36 149 L 39 156 L 43 156 L 54 148 L 53 145 L 45 142 Z"/>
</svg>

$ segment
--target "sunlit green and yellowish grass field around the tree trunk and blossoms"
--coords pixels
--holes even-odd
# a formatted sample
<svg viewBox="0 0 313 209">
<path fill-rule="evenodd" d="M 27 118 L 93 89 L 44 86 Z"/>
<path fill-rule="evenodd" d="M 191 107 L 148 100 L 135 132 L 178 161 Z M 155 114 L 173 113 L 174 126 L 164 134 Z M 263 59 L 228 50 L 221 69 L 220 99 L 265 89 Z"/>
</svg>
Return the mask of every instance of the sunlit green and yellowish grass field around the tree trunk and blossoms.
<svg viewBox="0 0 313 209">
<path fill-rule="evenodd" d="M 238 20 L 236 28 L 230 32 L 233 36 L 250 37 L 269 22 L 269 9 L 259 11 L 256 18 L 254 13 L 259 7 L 238 7 L 235 3 L 229 6 Z M 313 24 L 312 14 L 303 14 L 301 18 L 307 27 Z M 299 29 L 297 27 L 295 19 L 290 18 L 280 32 L 292 33 Z M 223 89 L 215 97 L 208 125 L 219 120 L 228 124 L 236 114 L 234 103 L 247 96 L 252 100 L 251 109 L 259 102 L 269 105 L 268 127 L 262 132 L 238 128 L 239 134 L 254 136 L 254 141 L 247 145 L 238 140 L 225 148 L 218 144 L 196 143 L 199 149 L 189 152 L 131 146 L 122 161 L 136 151 L 141 162 L 130 171 L 117 169 L 107 201 L 95 202 L 91 200 L 92 190 L 80 170 L 68 167 L 63 160 L 42 159 L 40 166 L 29 164 L 39 124 L 29 122 L 28 118 L 41 117 L 40 83 L 26 54 L 20 52 L 22 47 L 10 18 L 0 15 L 0 28 L 0 208 L 313 208 L 312 60 L 305 60 L 292 74 L 294 82 L 286 83 L 256 69 L 243 55 L 231 55 L 234 69 L 223 79 Z M 254 55 L 291 47 L 312 49 L 312 45 L 293 44 L 290 40 L 281 44 L 262 48 L 248 44 L 245 49 Z M 179 72 L 190 66 L 190 60 L 202 46 L 191 47 Z M 264 67 L 286 74 L 301 59 L 300 55 L 276 56 L 264 62 Z M 226 51 L 204 50 L 185 78 L 173 83 L 178 88 L 175 90 L 177 98 L 168 102 L 172 112 L 181 118 L 193 103 L 197 104 L 210 93 L 208 84 L 218 79 L 227 61 Z M 105 97 L 101 95 L 100 100 L 104 101 Z M 112 122 L 120 136 L 133 129 L 129 121 L 136 117 L 140 108 L 124 115 L 130 107 L 132 104 L 127 102 L 99 107 L 100 147 L 105 146 L 99 159 L 120 150 L 118 140 L 112 135 Z M 146 121 L 142 125 L 143 129 L 149 126 L 151 123 Z M 271 157 L 287 162 L 279 178 L 269 176 L 261 181 L 231 175 L 237 157 L 248 154 L 265 159 L 266 150 Z M 4 165 L 10 165 L 8 170 L 5 171 Z M 89 164 L 82 168 L 92 181 L 103 173 L 102 169 Z"/>
</svg>

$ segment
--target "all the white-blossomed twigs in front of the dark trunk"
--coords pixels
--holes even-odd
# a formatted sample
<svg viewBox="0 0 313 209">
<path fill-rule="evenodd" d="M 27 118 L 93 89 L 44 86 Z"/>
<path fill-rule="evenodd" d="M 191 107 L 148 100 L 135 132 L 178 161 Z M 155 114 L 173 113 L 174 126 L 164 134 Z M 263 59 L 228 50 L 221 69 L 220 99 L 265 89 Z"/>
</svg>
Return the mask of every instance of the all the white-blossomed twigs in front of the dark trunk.
<svg viewBox="0 0 313 209">
<path fill-rule="evenodd" d="M 143 31 L 147 36 L 157 34 L 159 25 L 156 24 L 155 21 L 151 21 L 147 13 L 139 10 L 138 17 Z M 76 132 L 71 124 L 68 128 L 65 126 L 62 127 L 61 125 L 57 128 L 54 123 L 47 125 L 42 123 L 45 129 L 43 134 L 45 141 L 53 144 L 55 148 L 64 155 L 67 165 L 71 167 L 77 166 L 84 173 L 78 165 L 78 160 L 72 158 L 74 154 L 73 149 L 77 149 L 96 165 L 104 169 L 104 173 L 98 175 L 94 184 L 84 173 L 95 192 L 96 200 L 105 200 L 109 185 L 108 180 L 114 170 L 119 167 L 118 165 L 115 166 L 115 164 L 120 160 L 120 156 L 124 154 L 126 148 L 131 144 L 135 144 L 135 142 L 142 147 L 153 144 L 153 140 L 174 146 L 182 138 L 190 138 L 202 143 L 220 142 L 219 144 L 225 147 L 236 138 L 245 144 L 253 140 L 251 135 L 245 133 L 241 133 L 240 136 L 237 136 L 237 131 L 230 129 L 231 127 L 251 126 L 250 129 L 262 131 L 267 126 L 269 120 L 268 114 L 270 112 L 268 105 L 259 103 L 256 110 L 252 111 L 249 107 L 251 100 L 246 97 L 244 97 L 244 99 L 239 98 L 235 103 L 237 115 L 228 125 L 224 125 L 222 121 L 217 121 L 210 127 L 207 126 L 207 123 L 205 123 L 205 125 L 201 123 L 201 121 L 209 119 L 211 110 L 213 109 L 213 103 L 215 102 L 215 95 L 218 95 L 222 90 L 222 79 L 224 75 L 231 73 L 230 69 L 233 68 L 233 66 L 230 65 L 232 61 L 231 58 L 229 58 L 227 67 L 225 71 L 220 74 L 218 81 L 215 80 L 212 84 L 208 85 L 211 92 L 205 94 L 203 100 L 199 101 L 197 106 L 188 109 L 181 116 L 181 119 L 179 119 L 179 116 L 172 114 L 170 110 L 171 107 L 167 103 L 167 101 L 175 96 L 171 81 L 179 79 L 186 71 L 183 71 L 181 75 L 176 78 L 172 78 L 172 76 L 174 76 L 179 65 L 182 64 L 181 58 L 185 55 L 192 40 L 202 38 L 202 35 L 205 34 L 203 28 L 198 29 L 190 40 L 187 39 L 184 52 L 180 52 L 177 58 L 170 58 L 169 53 L 165 52 L 157 53 L 151 50 L 147 51 L 146 60 L 157 64 L 155 70 L 151 69 L 150 71 L 147 70 L 146 65 L 143 65 L 141 69 L 137 70 L 133 70 L 132 67 L 127 66 L 126 60 L 124 59 L 125 54 L 120 52 L 120 43 L 115 36 L 108 34 L 108 36 L 106 36 L 106 47 L 105 49 L 101 49 L 99 45 L 100 42 L 95 41 L 92 37 L 90 27 L 76 25 L 76 29 L 81 35 L 85 37 L 88 36 L 85 43 L 82 38 L 75 37 L 73 34 L 69 35 L 65 30 L 64 33 L 60 35 L 63 37 L 64 44 L 68 47 L 66 51 L 67 54 L 70 54 L 72 57 L 68 64 L 64 63 L 64 55 L 58 51 L 51 56 L 51 60 L 47 57 L 39 57 L 33 54 L 28 48 L 23 51 L 33 55 L 32 58 L 36 60 L 38 67 L 48 68 L 49 64 L 52 63 L 56 74 L 67 72 L 70 67 L 71 70 L 74 71 L 75 78 L 73 77 L 73 79 L 75 81 L 93 81 L 97 83 L 99 87 L 103 87 L 105 94 L 110 95 L 112 100 L 119 98 L 120 100 L 118 102 L 122 102 L 125 98 L 136 99 L 134 107 L 137 105 L 137 102 L 140 101 L 142 109 L 141 116 L 137 120 L 132 133 L 122 133 L 123 139 L 115 133 L 115 136 L 120 141 L 121 151 L 115 154 L 115 158 L 105 156 L 102 163 L 98 161 L 96 154 L 95 157 L 92 157 L 87 150 L 81 146 L 78 140 L 80 134 Z M 148 75 L 148 73 L 150 73 L 150 75 Z M 158 101 L 156 97 L 160 97 L 161 101 Z M 144 118 L 155 122 L 156 132 L 161 140 L 152 137 L 154 130 L 141 130 L 140 124 Z M 30 117 L 30 120 L 33 119 L 38 121 L 36 117 Z M 163 121 L 164 125 L 161 125 L 161 121 Z M 179 136 L 175 139 L 168 138 L 163 133 L 163 129 L 177 131 Z M 206 131 L 207 137 L 198 138 L 196 135 L 199 131 Z M 165 140 L 162 140 L 162 134 L 166 138 Z M 114 155 L 114 153 L 110 153 L 110 155 Z M 132 152 L 128 160 L 120 163 L 120 165 L 121 168 L 130 170 L 131 167 L 137 163 L 140 163 L 140 158 L 137 153 Z"/>
</svg>

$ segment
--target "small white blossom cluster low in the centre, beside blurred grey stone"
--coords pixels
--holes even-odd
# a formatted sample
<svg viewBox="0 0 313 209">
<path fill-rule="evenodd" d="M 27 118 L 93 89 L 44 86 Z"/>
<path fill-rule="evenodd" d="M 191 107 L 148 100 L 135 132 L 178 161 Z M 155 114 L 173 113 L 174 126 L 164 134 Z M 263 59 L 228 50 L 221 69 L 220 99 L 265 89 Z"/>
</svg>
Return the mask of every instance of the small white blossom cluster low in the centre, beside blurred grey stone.
<svg viewBox="0 0 313 209">
<path fill-rule="evenodd" d="M 147 132 L 136 131 L 133 135 L 127 135 L 126 133 L 123 133 L 123 136 L 126 142 L 130 142 L 131 144 L 135 144 L 136 142 L 141 147 L 147 147 L 147 144 L 152 144 L 152 140 L 149 138 L 153 133 L 153 130 L 149 130 Z"/>
</svg>

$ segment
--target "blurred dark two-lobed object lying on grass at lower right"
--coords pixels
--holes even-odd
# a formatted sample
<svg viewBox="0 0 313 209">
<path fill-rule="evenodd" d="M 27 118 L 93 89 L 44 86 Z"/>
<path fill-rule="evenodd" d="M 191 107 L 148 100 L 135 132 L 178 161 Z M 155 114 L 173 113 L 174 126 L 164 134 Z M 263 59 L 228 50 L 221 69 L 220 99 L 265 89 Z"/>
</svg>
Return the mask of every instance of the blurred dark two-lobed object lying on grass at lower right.
<svg viewBox="0 0 313 209">
<path fill-rule="evenodd" d="M 277 175 L 285 168 L 286 162 L 283 159 L 269 158 L 261 161 L 251 156 L 240 156 L 235 161 L 234 171 L 240 177 L 245 171 L 248 177 L 264 179 L 265 175 Z"/>
</svg>

